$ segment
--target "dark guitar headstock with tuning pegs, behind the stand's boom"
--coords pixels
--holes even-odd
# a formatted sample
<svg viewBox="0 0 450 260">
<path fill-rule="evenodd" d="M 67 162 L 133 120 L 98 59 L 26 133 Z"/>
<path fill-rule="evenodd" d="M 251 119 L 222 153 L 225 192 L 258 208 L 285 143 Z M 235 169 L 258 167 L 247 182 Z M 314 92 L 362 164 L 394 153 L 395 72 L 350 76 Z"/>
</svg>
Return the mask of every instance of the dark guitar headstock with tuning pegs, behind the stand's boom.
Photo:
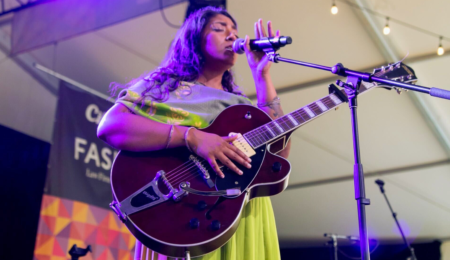
<svg viewBox="0 0 450 260">
<path fill-rule="evenodd" d="M 372 75 L 378 78 L 385 78 L 389 80 L 400 81 L 410 84 L 414 84 L 417 81 L 417 77 L 416 74 L 414 73 L 414 70 L 401 61 L 396 62 L 394 64 L 389 64 L 386 67 L 383 66 L 381 68 L 374 69 Z M 401 88 L 389 85 L 381 85 L 380 83 L 378 83 L 378 86 L 382 86 L 387 89 L 395 89 L 399 94 L 402 91 Z"/>
</svg>

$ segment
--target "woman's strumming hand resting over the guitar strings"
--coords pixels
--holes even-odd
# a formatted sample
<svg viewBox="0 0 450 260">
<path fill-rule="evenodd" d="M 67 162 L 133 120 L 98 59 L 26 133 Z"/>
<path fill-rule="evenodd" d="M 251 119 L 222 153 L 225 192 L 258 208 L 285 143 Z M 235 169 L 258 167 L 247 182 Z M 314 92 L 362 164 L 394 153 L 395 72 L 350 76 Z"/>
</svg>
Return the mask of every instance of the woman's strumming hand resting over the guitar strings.
<svg viewBox="0 0 450 260">
<path fill-rule="evenodd" d="M 251 168 L 251 159 L 231 144 L 236 139 L 237 136 L 220 137 L 193 128 L 188 133 L 187 144 L 194 153 L 208 161 L 217 175 L 225 178 L 217 160 L 239 175 L 242 175 L 242 171 L 231 160 Z"/>
</svg>

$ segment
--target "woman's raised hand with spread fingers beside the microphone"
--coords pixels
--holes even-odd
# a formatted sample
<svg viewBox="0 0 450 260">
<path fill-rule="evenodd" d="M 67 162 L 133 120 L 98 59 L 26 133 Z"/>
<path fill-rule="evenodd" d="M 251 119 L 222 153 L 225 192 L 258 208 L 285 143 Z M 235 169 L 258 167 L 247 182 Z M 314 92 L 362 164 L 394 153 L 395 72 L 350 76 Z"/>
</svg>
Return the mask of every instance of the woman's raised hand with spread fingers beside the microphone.
<svg viewBox="0 0 450 260">
<path fill-rule="evenodd" d="M 267 30 L 269 31 L 269 35 L 267 35 L 262 19 L 259 19 L 258 22 L 255 23 L 255 39 L 280 36 L 280 31 L 277 31 L 276 34 L 273 33 L 272 22 L 270 21 L 267 22 Z M 248 65 L 252 70 L 253 77 L 265 76 L 269 73 L 272 62 L 263 51 L 250 50 L 250 39 L 248 35 L 245 36 L 244 50 L 247 56 Z"/>
</svg>

